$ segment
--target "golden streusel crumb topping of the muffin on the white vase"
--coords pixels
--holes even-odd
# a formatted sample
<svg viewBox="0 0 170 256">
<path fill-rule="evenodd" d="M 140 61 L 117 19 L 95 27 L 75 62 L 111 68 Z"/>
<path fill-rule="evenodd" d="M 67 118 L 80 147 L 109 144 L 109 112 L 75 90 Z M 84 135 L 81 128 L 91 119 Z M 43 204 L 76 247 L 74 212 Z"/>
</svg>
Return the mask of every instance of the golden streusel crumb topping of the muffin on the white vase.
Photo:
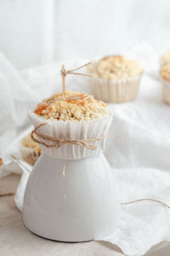
<svg viewBox="0 0 170 256">
<path fill-rule="evenodd" d="M 94 96 L 78 91 L 66 90 L 54 94 L 37 105 L 34 113 L 45 119 L 57 120 L 84 120 L 97 119 L 108 113 L 106 104 L 97 101 Z"/>
</svg>

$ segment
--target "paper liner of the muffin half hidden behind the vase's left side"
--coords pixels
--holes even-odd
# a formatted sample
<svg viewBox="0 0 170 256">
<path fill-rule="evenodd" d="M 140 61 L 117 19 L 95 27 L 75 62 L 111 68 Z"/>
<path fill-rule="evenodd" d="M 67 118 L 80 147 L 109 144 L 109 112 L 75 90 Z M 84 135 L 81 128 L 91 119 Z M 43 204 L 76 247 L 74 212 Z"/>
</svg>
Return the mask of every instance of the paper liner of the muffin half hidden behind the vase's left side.
<svg viewBox="0 0 170 256">
<path fill-rule="evenodd" d="M 40 156 L 40 152 L 38 152 L 34 148 L 26 148 L 24 146 L 20 146 L 20 151 L 23 160 L 25 160 L 31 166 L 34 166 L 38 157 Z"/>
</svg>

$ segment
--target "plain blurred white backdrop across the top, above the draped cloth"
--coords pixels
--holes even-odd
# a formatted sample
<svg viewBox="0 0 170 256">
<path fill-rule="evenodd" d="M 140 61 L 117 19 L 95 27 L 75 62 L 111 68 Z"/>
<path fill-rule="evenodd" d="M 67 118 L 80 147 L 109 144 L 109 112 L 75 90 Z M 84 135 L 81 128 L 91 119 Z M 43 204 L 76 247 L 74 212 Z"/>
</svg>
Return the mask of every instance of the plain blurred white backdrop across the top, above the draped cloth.
<svg viewBox="0 0 170 256">
<path fill-rule="evenodd" d="M 169 48 L 169 0 L 1 0 L 0 50 L 14 67 Z"/>
</svg>

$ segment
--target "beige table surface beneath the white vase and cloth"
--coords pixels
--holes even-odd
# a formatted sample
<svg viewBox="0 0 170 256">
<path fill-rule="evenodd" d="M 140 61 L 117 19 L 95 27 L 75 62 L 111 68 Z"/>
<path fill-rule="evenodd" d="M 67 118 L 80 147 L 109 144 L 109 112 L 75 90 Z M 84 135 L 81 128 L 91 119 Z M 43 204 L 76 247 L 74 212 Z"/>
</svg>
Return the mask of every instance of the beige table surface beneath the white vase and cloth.
<svg viewBox="0 0 170 256">
<path fill-rule="evenodd" d="M 14 193 L 19 175 L 9 175 L 0 180 L 0 195 Z M 59 242 L 50 241 L 26 230 L 21 212 L 14 205 L 14 196 L 0 197 L 0 256 L 121 256 L 121 250 L 105 241 Z M 170 255 L 170 244 L 162 243 L 151 248 L 147 256 Z"/>
</svg>

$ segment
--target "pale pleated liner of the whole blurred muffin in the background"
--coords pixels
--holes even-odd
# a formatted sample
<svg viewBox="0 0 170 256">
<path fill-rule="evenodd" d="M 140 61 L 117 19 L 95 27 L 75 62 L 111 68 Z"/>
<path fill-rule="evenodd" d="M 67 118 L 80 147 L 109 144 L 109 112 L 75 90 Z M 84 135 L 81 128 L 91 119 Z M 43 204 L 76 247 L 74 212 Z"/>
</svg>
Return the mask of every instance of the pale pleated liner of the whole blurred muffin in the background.
<svg viewBox="0 0 170 256">
<path fill-rule="evenodd" d="M 131 102 L 135 100 L 142 75 L 122 80 L 90 79 L 94 97 L 104 102 Z"/>
</svg>

